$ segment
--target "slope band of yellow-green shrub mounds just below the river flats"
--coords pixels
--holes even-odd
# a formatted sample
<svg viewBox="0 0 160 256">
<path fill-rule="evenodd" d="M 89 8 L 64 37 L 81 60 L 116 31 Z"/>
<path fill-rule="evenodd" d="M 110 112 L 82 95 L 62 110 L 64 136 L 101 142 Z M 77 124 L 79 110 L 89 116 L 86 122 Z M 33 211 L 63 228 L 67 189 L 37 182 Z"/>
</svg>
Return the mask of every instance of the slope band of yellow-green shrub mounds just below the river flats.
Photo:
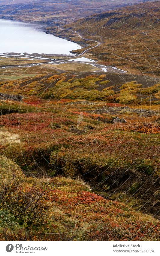
<svg viewBox="0 0 160 256">
<path fill-rule="evenodd" d="M 158 109 L 159 90 L 160 79 L 131 74 L 68 72 L 0 82 L 0 93 L 35 96 L 41 101 L 49 98 L 102 100 L 131 107 L 148 105 L 151 109 L 154 106 Z"/>
</svg>

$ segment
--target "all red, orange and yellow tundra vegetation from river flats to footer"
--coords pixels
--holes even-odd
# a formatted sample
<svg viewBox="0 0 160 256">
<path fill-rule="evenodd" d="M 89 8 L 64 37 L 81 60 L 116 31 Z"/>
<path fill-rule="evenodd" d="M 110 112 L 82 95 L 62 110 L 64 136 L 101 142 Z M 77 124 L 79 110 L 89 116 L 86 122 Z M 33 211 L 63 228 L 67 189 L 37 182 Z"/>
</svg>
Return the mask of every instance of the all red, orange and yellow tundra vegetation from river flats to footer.
<svg viewBox="0 0 160 256">
<path fill-rule="evenodd" d="M 160 83 L 149 85 L 69 72 L 1 82 L 2 241 L 158 240 Z"/>
</svg>

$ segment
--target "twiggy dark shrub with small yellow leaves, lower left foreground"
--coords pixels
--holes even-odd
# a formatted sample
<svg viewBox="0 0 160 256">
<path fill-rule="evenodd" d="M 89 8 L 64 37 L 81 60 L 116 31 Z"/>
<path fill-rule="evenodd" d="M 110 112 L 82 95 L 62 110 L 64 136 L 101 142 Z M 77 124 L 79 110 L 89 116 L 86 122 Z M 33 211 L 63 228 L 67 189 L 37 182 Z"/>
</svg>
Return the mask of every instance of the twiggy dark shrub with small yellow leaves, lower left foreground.
<svg viewBox="0 0 160 256">
<path fill-rule="evenodd" d="M 22 186 L 23 185 L 23 186 Z M 7 209 L 14 214 L 19 224 L 25 223 L 28 225 L 38 226 L 47 222 L 49 215 L 49 206 L 47 197 L 51 201 L 54 200 L 54 193 L 52 198 L 49 196 L 50 192 L 54 190 L 50 188 L 43 188 L 36 182 L 31 186 L 20 183 L 15 186 L 8 187 L 5 195 L 2 198 L 4 201 L 3 209 Z M 17 203 L 18 202 L 18 203 Z"/>
</svg>

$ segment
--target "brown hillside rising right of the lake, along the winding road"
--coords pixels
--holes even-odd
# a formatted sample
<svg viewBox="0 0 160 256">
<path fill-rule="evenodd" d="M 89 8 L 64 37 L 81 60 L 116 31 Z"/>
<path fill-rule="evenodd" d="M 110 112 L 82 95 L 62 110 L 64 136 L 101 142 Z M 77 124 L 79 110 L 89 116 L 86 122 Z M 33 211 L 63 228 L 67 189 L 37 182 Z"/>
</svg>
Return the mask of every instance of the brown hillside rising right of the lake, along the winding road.
<svg viewBox="0 0 160 256">
<path fill-rule="evenodd" d="M 74 21 L 62 26 L 63 30 L 48 28 L 48 31 L 83 46 L 87 43 L 88 48 L 94 43 L 80 39 L 73 30 L 86 39 L 99 41 L 100 46 L 89 52 L 101 64 L 159 75 L 159 10 L 159 1 L 145 2 Z"/>
</svg>

